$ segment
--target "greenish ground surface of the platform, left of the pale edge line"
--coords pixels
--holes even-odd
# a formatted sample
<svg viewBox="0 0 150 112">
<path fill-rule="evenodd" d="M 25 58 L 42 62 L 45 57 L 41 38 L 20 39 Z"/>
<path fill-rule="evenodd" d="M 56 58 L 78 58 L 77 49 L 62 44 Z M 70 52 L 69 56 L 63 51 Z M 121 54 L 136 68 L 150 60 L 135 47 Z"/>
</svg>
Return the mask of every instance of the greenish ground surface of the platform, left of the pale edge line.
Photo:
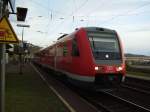
<svg viewBox="0 0 150 112">
<path fill-rule="evenodd" d="M 6 74 L 5 97 L 6 112 L 68 111 L 32 69 L 24 71 L 23 75 L 19 75 L 17 72 Z"/>
</svg>

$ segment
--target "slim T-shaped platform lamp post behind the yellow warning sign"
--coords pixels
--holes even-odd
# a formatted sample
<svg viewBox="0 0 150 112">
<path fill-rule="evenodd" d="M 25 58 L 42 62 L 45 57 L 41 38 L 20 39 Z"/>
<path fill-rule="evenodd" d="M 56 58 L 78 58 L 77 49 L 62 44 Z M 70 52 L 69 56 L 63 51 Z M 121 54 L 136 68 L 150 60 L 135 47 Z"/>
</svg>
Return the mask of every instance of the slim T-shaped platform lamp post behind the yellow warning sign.
<svg viewBox="0 0 150 112">
<path fill-rule="evenodd" d="M 21 46 L 19 49 L 19 60 L 20 60 L 20 70 L 19 73 L 23 74 L 22 72 L 22 64 L 23 64 L 23 59 L 22 59 L 22 53 L 23 53 L 23 35 L 24 35 L 24 28 L 25 27 L 30 27 L 30 25 L 23 25 L 23 24 L 17 24 L 18 27 L 22 27 L 22 40 L 21 40 Z"/>
</svg>

